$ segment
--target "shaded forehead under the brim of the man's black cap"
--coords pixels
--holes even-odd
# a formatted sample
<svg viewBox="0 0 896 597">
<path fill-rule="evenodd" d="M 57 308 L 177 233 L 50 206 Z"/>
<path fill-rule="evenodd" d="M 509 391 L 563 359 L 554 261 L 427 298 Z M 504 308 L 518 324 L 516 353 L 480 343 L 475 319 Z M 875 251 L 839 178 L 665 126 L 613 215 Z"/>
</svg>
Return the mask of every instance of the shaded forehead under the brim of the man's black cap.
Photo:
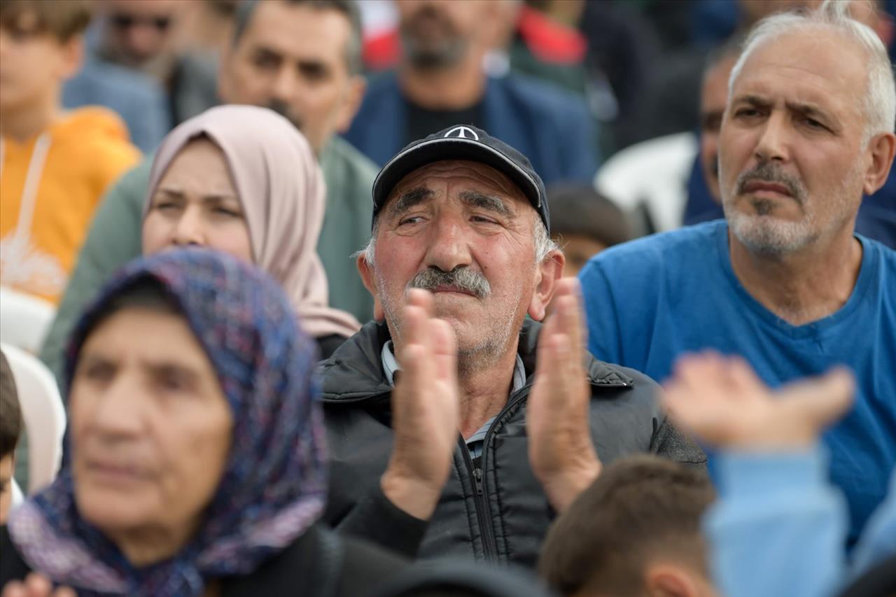
<svg viewBox="0 0 896 597">
<path fill-rule="evenodd" d="M 426 188 L 438 191 L 446 185 L 449 192 L 476 190 L 489 195 L 497 195 L 513 203 L 530 205 L 522 189 L 504 172 L 478 161 L 441 160 L 421 166 L 401 178 L 398 184 L 392 188 L 383 209 L 387 208 L 396 197 L 411 189 Z M 436 193 L 435 198 L 438 198 L 439 195 Z"/>
</svg>

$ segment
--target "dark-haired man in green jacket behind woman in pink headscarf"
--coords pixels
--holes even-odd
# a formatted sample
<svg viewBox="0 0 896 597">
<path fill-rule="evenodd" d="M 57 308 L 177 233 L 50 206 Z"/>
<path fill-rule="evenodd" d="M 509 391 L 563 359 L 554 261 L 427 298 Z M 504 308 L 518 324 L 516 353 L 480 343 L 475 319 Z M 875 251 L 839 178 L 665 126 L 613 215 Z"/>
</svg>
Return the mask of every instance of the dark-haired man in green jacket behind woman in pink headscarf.
<svg viewBox="0 0 896 597">
<path fill-rule="evenodd" d="M 364 96 L 361 30 L 351 0 L 277 0 L 239 7 L 233 44 L 221 56 L 219 93 L 225 103 L 273 108 L 314 147 L 327 184 L 318 254 L 330 305 L 365 322 L 373 299 L 351 255 L 370 237 L 375 165 L 336 133 L 348 128 Z M 71 328 L 102 284 L 140 255 L 142 206 L 152 156 L 107 193 L 90 227 L 40 358 L 62 378 Z"/>
</svg>

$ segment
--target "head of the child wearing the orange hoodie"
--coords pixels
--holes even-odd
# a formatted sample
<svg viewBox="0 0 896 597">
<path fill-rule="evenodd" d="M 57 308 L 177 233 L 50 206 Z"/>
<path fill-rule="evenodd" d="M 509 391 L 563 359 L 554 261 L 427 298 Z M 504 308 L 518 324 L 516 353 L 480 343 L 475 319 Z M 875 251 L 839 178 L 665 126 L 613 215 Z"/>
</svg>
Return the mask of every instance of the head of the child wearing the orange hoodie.
<svg viewBox="0 0 896 597">
<path fill-rule="evenodd" d="M 89 22 L 87 0 L 0 0 L 0 111 L 56 108 Z"/>
</svg>

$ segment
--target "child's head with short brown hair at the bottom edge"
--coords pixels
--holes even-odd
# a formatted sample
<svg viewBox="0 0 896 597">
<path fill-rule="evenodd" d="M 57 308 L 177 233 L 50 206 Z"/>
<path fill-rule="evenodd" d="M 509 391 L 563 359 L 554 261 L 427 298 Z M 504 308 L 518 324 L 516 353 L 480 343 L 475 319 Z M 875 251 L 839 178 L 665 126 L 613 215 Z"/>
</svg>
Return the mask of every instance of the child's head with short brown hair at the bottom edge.
<svg viewBox="0 0 896 597">
<path fill-rule="evenodd" d="M 576 597 L 712 595 L 700 518 L 714 497 L 706 474 L 683 464 L 613 463 L 551 527 L 538 572 Z"/>
</svg>

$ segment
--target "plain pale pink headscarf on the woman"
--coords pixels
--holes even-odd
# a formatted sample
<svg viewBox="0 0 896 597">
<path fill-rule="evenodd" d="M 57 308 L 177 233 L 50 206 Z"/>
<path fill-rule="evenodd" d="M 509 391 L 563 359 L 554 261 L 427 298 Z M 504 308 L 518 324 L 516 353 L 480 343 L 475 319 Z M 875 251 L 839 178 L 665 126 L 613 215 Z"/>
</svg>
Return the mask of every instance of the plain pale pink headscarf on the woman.
<svg viewBox="0 0 896 597">
<path fill-rule="evenodd" d="M 202 134 L 227 158 L 255 264 L 280 282 L 306 332 L 315 338 L 357 332 L 354 316 L 329 307 L 327 277 L 317 256 L 326 206 L 323 173 L 305 137 L 276 112 L 219 106 L 178 125 L 156 151 L 143 217 L 177 153 Z"/>
</svg>

